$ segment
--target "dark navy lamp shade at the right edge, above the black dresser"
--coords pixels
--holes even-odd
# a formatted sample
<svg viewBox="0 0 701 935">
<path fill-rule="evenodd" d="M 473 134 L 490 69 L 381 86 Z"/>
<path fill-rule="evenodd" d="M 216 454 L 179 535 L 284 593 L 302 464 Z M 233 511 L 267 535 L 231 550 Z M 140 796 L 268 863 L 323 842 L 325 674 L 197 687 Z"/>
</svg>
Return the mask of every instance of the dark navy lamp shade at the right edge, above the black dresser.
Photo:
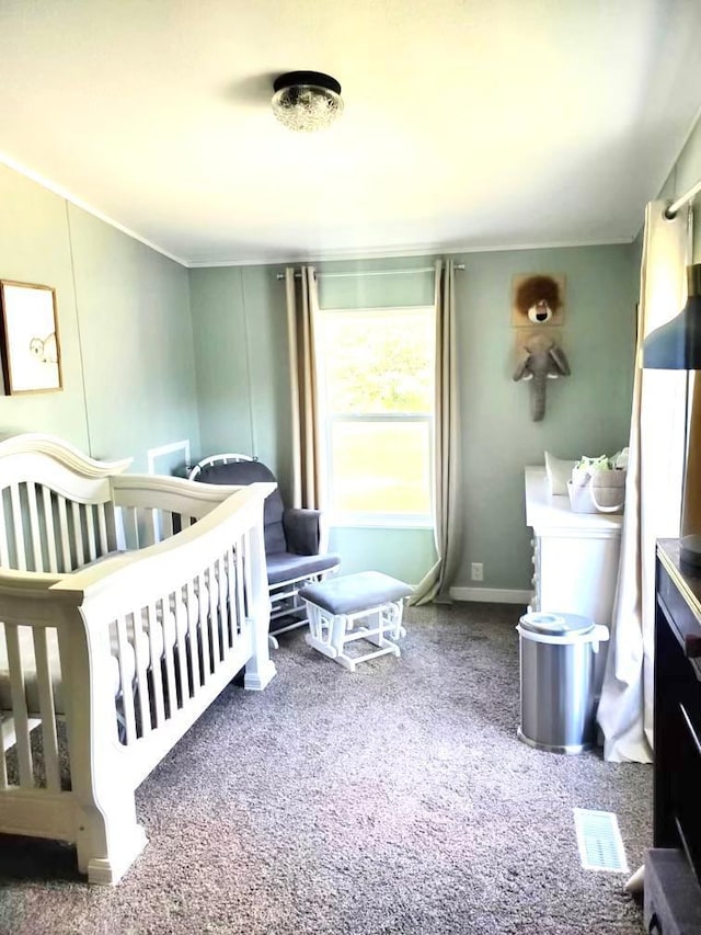
<svg viewBox="0 0 701 935">
<path fill-rule="evenodd" d="M 701 369 L 701 263 L 687 266 L 687 281 L 685 307 L 643 342 L 644 369 Z"/>
</svg>

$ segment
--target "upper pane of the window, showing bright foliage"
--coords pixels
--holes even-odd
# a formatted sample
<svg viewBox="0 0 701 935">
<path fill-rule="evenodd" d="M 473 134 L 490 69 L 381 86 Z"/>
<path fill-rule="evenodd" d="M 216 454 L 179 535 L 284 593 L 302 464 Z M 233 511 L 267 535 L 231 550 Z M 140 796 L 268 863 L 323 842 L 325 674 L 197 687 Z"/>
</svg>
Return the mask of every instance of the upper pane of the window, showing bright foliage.
<svg viewBox="0 0 701 935">
<path fill-rule="evenodd" d="M 433 311 L 334 311 L 321 340 L 331 412 L 433 411 Z"/>
</svg>

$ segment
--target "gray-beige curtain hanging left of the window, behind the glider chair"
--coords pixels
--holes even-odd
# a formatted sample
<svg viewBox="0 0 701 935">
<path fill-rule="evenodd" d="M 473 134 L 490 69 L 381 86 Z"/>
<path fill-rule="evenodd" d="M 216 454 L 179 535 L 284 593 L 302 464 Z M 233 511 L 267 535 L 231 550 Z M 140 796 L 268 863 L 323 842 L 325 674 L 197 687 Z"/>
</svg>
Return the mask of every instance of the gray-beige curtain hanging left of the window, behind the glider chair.
<svg viewBox="0 0 701 935">
<path fill-rule="evenodd" d="M 319 463 L 319 400 L 314 364 L 317 273 L 302 266 L 285 271 L 292 427 L 292 505 L 323 509 Z"/>
</svg>

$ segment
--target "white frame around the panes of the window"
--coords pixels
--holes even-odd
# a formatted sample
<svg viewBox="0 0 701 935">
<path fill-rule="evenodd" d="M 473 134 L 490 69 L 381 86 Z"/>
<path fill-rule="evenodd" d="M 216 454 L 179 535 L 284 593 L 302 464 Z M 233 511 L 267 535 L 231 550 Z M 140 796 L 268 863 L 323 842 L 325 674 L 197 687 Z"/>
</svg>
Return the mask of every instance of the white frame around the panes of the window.
<svg viewBox="0 0 701 935">
<path fill-rule="evenodd" d="M 371 317 L 381 315 L 390 317 L 392 313 L 407 312 L 417 316 L 429 315 L 435 321 L 436 310 L 433 305 L 421 306 L 381 306 L 379 308 L 322 308 L 318 310 L 319 317 L 353 313 L 358 316 Z M 434 349 L 435 354 L 435 349 Z M 382 528 L 433 528 L 435 514 L 435 404 L 432 412 L 372 412 L 372 413 L 329 413 L 326 408 L 326 379 L 325 374 L 329 366 L 333 366 L 332 362 L 322 358 L 321 353 L 317 353 L 317 386 L 319 389 L 319 430 L 321 434 L 321 460 L 322 460 L 322 482 L 325 491 L 325 501 L 331 504 L 332 492 L 332 476 L 331 476 L 331 436 L 330 429 L 334 424 L 350 424 L 350 423 L 371 423 L 371 422 L 398 422 L 398 423 L 421 423 L 428 425 L 428 449 L 427 449 L 427 475 L 429 486 L 429 510 L 427 513 L 368 513 L 361 511 L 340 511 L 329 510 L 329 524 L 331 526 L 344 526 L 347 528 L 359 527 L 382 527 Z"/>
</svg>

